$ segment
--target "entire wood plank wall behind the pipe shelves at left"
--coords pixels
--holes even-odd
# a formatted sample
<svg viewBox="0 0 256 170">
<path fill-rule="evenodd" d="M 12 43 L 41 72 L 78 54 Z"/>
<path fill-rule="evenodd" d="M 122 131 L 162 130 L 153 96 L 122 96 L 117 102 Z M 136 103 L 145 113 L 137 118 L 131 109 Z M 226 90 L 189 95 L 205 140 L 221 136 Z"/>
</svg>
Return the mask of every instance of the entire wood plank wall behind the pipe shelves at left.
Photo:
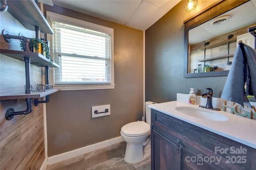
<svg viewBox="0 0 256 170">
<path fill-rule="evenodd" d="M 7 43 L 2 37 L 2 30 L 7 29 L 12 35 L 20 32 L 26 37 L 35 36 L 35 31 L 28 31 L 8 12 L 0 13 L 0 44 L 2 49 L 21 50 L 20 41 Z M 31 65 L 31 84 L 42 83 L 42 68 Z M 23 92 L 25 85 L 24 62 L 0 55 L 0 92 Z M 42 98 L 38 100 L 43 100 Z M 32 101 L 34 103 L 34 99 Z M 7 109 L 26 110 L 26 100 L 0 101 L 0 169 L 27 170 L 40 169 L 45 160 L 43 104 L 32 105 L 28 115 L 17 115 L 6 120 Z"/>
</svg>

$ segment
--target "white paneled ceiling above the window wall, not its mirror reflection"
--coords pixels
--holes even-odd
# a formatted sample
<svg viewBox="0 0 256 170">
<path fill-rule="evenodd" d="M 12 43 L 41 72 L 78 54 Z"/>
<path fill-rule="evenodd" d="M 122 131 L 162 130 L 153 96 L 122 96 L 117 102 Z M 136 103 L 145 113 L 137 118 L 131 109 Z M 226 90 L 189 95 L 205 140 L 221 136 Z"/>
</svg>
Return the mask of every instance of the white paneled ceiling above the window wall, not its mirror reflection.
<svg viewBox="0 0 256 170">
<path fill-rule="evenodd" d="M 145 31 L 181 0 L 52 0 L 53 4 Z"/>
</svg>

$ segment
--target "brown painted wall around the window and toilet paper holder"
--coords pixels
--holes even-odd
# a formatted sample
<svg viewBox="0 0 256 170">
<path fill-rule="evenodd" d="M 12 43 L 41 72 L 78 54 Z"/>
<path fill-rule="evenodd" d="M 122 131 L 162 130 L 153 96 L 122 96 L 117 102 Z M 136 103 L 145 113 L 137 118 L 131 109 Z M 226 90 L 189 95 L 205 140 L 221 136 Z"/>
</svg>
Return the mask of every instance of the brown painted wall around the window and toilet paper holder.
<svg viewBox="0 0 256 170">
<path fill-rule="evenodd" d="M 44 10 L 114 29 L 115 88 L 60 91 L 46 104 L 48 156 L 120 136 L 143 116 L 143 31 L 61 8 Z M 92 106 L 110 104 L 111 115 L 92 119 Z"/>
</svg>

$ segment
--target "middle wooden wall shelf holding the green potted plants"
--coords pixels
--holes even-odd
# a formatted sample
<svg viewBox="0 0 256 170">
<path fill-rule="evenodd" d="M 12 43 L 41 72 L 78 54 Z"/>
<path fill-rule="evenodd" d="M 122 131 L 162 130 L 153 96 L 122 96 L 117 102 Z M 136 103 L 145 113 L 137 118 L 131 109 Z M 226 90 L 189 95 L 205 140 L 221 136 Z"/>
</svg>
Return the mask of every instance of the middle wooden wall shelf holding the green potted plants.
<svg viewBox="0 0 256 170">
<path fill-rule="evenodd" d="M 16 50 L 8 50 L 8 49 L 0 49 L 0 53 L 3 55 L 7 55 L 9 57 L 12 57 L 14 59 L 18 59 L 20 61 L 24 61 L 24 57 L 28 57 L 30 58 L 31 64 L 34 64 L 36 66 L 40 66 L 40 67 L 49 66 L 49 67 L 60 68 L 60 66 L 56 63 L 50 64 L 50 60 L 44 57 L 40 53 L 16 51 Z"/>
</svg>

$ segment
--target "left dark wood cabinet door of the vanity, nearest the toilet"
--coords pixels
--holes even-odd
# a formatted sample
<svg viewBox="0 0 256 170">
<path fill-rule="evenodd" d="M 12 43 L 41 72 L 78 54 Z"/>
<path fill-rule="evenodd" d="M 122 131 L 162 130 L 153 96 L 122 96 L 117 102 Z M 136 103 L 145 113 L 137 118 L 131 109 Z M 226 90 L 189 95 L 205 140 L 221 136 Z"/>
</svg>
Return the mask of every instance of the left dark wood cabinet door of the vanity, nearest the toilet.
<svg viewBox="0 0 256 170">
<path fill-rule="evenodd" d="M 178 152 L 176 146 L 178 145 Z M 179 144 L 153 130 L 151 134 L 151 169 L 180 170 Z"/>
</svg>

